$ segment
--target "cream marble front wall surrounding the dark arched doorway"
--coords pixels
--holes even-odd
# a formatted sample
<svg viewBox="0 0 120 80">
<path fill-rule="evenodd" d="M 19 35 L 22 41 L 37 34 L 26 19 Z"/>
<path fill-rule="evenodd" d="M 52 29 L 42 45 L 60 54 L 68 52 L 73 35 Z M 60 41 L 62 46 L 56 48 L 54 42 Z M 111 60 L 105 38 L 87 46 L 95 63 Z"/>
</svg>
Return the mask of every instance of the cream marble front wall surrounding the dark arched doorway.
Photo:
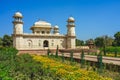
<svg viewBox="0 0 120 80">
<path fill-rule="evenodd" d="M 21 40 L 21 41 L 20 41 Z M 16 38 L 17 48 L 18 49 L 44 49 L 43 42 L 47 40 L 49 42 L 50 49 L 56 49 L 57 45 L 59 49 L 66 48 L 66 38 L 60 37 L 24 37 L 23 40 L 20 38 Z M 23 44 L 19 44 L 22 42 Z"/>
</svg>

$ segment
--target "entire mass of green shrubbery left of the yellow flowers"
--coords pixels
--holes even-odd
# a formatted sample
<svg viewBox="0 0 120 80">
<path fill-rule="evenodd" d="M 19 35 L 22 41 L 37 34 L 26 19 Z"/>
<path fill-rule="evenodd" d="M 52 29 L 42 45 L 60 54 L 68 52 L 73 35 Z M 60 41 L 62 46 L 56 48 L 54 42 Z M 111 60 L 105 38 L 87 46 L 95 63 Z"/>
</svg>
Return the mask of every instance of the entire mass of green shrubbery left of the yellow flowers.
<svg viewBox="0 0 120 80">
<path fill-rule="evenodd" d="M 55 80 L 42 64 L 29 54 L 16 55 L 15 48 L 0 48 L 0 80 Z"/>
</svg>

